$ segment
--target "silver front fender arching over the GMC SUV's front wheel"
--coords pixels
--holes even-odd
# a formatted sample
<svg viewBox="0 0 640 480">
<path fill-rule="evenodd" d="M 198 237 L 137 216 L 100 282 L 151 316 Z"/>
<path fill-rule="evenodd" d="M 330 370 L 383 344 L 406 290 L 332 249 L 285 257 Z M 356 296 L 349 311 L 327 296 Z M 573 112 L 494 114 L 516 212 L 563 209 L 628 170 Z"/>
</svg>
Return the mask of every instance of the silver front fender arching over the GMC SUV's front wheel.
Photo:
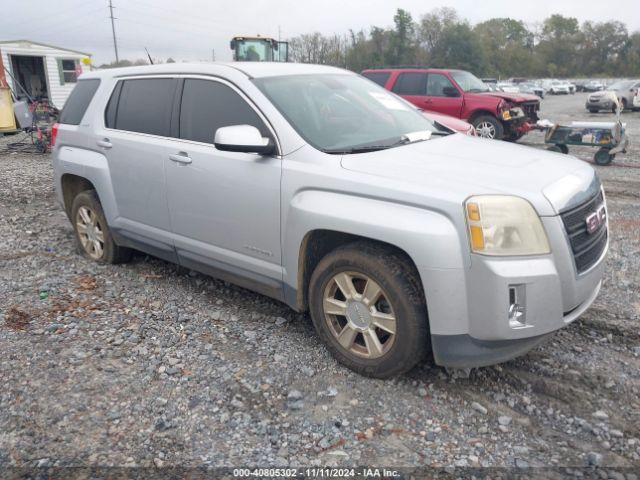
<svg viewBox="0 0 640 480">
<path fill-rule="evenodd" d="M 314 230 L 358 235 L 400 248 L 420 274 L 431 331 L 467 328 L 464 272 L 469 258 L 456 226 L 442 213 L 338 192 L 299 192 L 283 229 L 284 281 L 290 291 L 298 288 L 300 247 Z"/>
</svg>

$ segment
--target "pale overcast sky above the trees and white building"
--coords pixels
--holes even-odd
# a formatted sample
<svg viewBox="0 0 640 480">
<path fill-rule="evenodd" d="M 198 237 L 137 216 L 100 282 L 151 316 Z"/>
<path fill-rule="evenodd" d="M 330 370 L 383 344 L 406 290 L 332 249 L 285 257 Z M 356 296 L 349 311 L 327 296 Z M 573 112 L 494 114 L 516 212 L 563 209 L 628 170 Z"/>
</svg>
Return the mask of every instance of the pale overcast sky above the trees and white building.
<svg viewBox="0 0 640 480">
<path fill-rule="evenodd" d="M 108 0 L 0 0 L 0 40 L 29 39 L 87 51 L 94 64 L 114 60 Z M 282 38 L 320 31 L 345 33 L 390 26 L 397 8 L 414 19 L 450 6 L 470 20 L 511 17 L 535 23 L 560 13 L 585 20 L 620 20 L 640 30 L 638 0 L 113 0 L 120 58 L 230 60 L 234 35 Z"/>
</svg>

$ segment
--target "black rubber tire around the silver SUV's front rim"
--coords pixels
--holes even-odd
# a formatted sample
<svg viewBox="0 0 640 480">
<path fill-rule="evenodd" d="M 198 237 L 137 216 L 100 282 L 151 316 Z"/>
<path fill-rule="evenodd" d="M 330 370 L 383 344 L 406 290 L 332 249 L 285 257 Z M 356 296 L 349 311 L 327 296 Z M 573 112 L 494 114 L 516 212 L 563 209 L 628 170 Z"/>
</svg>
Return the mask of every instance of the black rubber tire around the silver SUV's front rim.
<svg viewBox="0 0 640 480">
<path fill-rule="evenodd" d="M 396 334 L 388 351 L 378 358 L 363 358 L 340 345 L 325 317 L 325 291 L 335 275 L 344 272 L 369 277 L 389 297 L 396 318 Z M 405 255 L 390 247 L 363 241 L 327 254 L 311 276 L 309 307 L 316 332 L 331 354 L 361 375 L 375 378 L 399 375 L 421 362 L 431 350 L 427 307 L 418 273 Z M 346 322 L 346 317 L 343 319 Z"/>
</svg>

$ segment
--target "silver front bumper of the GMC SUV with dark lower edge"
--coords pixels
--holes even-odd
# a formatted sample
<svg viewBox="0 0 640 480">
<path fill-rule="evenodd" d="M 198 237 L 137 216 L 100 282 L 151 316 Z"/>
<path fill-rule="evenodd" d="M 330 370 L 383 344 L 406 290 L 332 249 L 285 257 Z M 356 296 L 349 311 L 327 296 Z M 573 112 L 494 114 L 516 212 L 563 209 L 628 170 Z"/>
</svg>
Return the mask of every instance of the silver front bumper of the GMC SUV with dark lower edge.
<svg viewBox="0 0 640 480">
<path fill-rule="evenodd" d="M 437 364 L 471 367 L 508 360 L 573 322 L 593 303 L 608 245 L 588 270 L 578 273 L 561 218 L 542 217 L 542 222 L 552 249 L 548 255 L 472 254 L 468 269 L 421 272 Z M 521 292 L 522 323 L 509 319 L 514 288 Z"/>
</svg>

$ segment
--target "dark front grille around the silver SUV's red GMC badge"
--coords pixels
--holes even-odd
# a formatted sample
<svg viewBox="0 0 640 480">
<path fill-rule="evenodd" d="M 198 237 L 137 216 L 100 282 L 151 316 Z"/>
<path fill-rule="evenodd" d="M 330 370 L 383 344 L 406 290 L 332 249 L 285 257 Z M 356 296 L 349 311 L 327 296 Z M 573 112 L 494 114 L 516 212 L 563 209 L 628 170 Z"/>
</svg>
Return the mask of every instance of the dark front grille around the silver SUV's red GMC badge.
<svg viewBox="0 0 640 480">
<path fill-rule="evenodd" d="M 578 273 L 591 268 L 600 258 L 607 245 L 607 222 L 603 222 L 593 233 L 587 232 L 587 217 L 604 203 L 602 191 L 586 202 L 560 213 L 567 231 L 571 251 Z"/>
</svg>

